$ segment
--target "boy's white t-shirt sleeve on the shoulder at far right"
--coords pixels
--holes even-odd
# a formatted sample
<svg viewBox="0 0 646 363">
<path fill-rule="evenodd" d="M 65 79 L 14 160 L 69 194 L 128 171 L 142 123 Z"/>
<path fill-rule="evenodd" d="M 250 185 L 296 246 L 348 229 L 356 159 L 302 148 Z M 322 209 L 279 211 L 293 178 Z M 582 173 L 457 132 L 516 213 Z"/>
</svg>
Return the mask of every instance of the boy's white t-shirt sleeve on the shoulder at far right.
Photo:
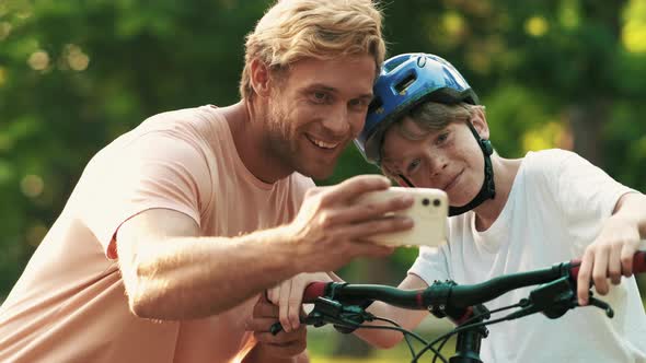
<svg viewBox="0 0 646 363">
<path fill-rule="evenodd" d="M 601 168 L 573 152 L 563 152 L 551 177 L 557 206 L 564 222 L 574 234 L 579 251 L 592 243 L 601 225 L 612 212 L 619 199 L 635 190 L 618 183 Z"/>
</svg>

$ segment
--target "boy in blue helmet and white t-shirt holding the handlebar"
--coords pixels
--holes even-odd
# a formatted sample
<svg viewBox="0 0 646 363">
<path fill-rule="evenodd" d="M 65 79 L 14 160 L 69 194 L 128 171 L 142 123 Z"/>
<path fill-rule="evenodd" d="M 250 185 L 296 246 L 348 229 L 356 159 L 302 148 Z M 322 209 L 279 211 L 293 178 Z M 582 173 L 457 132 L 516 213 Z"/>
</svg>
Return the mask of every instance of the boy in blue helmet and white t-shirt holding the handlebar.
<svg viewBox="0 0 646 363">
<path fill-rule="evenodd" d="M 356 140 L 361 153 L 400 185 L 442 189 L 451 203 L 449 243 L 420 248 L 400 288 L 424 289 L 446 279 L 472 284 L 582 257 L 579 304 L 588 303 L 591 279 L 615 309 L 614 318 L 579 308 L 558 321 L 533 315 L 493 325 L 482 360 L 646 362 L 646 316 L 635 279 L 619 285 L 622 276 L 632 274 L 632 256 L 646 236 L 644 195 L 568 151 L 530 152 L 518 160 L 494 153 L 475 92 L 437 56 L 389 59 L 374 95 Z M 517 303 L 529 289 L 486 305 L 493 309 Z M 369 312 L 406 329 L 428 314 L 382 303 Z M 293 328 L 292 319 L 284 320 Z M 382 348 L 402 339 L 399 332 L 373 329 L 356 333 Z"/>
</svg>

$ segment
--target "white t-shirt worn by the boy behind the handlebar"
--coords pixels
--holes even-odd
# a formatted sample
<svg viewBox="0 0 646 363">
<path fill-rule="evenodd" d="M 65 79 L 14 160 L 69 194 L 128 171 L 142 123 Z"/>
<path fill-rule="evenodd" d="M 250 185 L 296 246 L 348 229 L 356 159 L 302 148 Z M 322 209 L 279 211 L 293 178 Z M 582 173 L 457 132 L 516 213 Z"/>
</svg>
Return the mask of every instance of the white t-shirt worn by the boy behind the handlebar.
<svg viewBox="0 0 646 363">
<path fill-rule="evenodd" d="M 423 247 L 408 273 L 429 285 L 446 279 L 473 284 L 578 258 L 620 197 L 631 191 L 575 153 L 530 152 L 494 224 L 477 232 L 473 212 L 450 218 L 449 244 Z M 518 303 L 533 289 L 512 291 L 485 306 L 494 309 Z M 558 319 L 534 314 L 492 325 L 481 359 L 487 363 L 646 362 L 646 315 L 635 279 L 622 278 L 608 295 L 596 297 L 612 306 L 612 319 L 590 306 L 568 311 Z"/>
</svg>

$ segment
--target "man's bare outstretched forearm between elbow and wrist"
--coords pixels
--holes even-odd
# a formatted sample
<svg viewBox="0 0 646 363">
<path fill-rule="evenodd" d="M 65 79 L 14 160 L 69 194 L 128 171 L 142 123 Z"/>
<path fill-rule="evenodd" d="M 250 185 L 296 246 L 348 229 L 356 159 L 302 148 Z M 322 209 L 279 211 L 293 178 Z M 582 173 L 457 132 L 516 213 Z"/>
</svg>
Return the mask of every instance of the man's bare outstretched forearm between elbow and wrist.
<svg viewBox="0 0 646 363">
<path fill-rule="evenodd" d="M 132 309 L 155 319 L 222 313 L 296 274 L 293 248 L 280 229 L 235 238 L 169 237 L 150 243 L 135 264 Z"/>
</svg>

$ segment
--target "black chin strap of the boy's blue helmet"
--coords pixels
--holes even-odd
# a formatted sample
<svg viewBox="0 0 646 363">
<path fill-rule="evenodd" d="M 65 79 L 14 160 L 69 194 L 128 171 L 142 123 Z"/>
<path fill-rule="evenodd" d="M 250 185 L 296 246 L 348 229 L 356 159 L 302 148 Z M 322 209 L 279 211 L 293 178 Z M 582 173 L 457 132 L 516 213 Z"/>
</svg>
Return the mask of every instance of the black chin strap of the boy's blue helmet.
<svg viewBox="0 0 646 363">
<path fill-rule="evenodd" d="M 469 129 L 475 137 L 480 149 L 484 155 L 485 167 L 484 167 L 484 182 L 480 191 L 471 200 L 469 203 L 462 207 L 449 207 L 449 215 L 460 215 L 462 213 L 469 212 L 470 210 L 474 209 L 475 207 L 482 204 L 487 199 L 494 199 L 496 197 L 496 185 L 494 184 L 494 166 L 492 165 L 492 154 L 494 153 L 494 148 L 492 147 L 492 142 L 489 140 L 485 140 L 480 137 L 473 125 L 471 122 L 466 122 L 469 125 Z M 415 185 L 411 183 L 403 174 L 399 175 L 406 185 L 411 188 L 415 188 Z"/>
</svg>

